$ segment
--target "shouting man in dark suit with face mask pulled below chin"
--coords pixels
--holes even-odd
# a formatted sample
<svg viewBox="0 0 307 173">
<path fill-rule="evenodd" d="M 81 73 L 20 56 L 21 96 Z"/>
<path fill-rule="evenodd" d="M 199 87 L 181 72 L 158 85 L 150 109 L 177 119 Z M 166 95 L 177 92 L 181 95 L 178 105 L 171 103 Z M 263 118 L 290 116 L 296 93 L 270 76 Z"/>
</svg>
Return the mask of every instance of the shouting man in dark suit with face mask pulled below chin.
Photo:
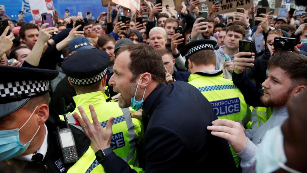
<svg viewBox="0 0 307 173">
<path fill-rule="evenodd" d="M 120 51 L 109 85 L 121 93 L 120 107 L 138 110 L 143 106 L 146 173 L 236 172 L 227 141 L 207 130 L 217 119 L 208 100 L 186 82 L 167 84 L 161 54 L 151 46 L 139 43 Z M 110 148 L 113 117 L 104 130 L 89 107 L 93 124 L 82 107 L 78 107 L 82 119 L 77 113 L 74 116 L 91 139 L 96 159 L 106 172 L 135 172 Z"/>
</svg>

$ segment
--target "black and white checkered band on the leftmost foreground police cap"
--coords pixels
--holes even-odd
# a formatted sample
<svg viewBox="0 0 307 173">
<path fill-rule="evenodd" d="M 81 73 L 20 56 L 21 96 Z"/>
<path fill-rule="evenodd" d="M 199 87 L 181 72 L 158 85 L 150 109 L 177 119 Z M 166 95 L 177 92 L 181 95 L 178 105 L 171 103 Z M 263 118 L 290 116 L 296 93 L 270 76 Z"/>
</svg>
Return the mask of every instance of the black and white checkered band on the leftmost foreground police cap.
<svg viewBox="0 0 307 173">
<path fill-rule="evenodd" d="M 49 80 L 24 80 L 0 83 L 1 100 L 26 99 L 49 91 Z"/>
</svg>

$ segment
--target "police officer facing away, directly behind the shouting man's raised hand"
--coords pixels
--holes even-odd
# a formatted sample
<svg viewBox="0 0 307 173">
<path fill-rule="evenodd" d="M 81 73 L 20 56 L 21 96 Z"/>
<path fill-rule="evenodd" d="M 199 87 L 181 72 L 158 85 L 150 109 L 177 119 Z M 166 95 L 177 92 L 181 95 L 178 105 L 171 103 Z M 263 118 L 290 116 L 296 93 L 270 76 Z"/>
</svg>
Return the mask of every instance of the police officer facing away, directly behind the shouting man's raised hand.
<svg viewBox="0 0 307 173">
<path fill-rule="evenodd" d="M 121 109 L 118 102 L 106 101 L 108 96 L 105 94 L 105 86 L 109 64 L 110 58 L 105 51 L 89 49 L 81 50 L 65 59 L 62 69 L 76 90 L 77 95 L 73 97 L 76 106 L 84 107 L 90 121 L 90 104 L 95 108 L 101 126 L 106 127 L 107 120 L 115 117 L 111 148 L 135 170 L 142 171 L 142 168 L 138 168 L 135 148 L 136 142 L 142 140 L 142 123 L 139 119 L 131 118 L 129 108 Z M 79 113 L 78 108 L 73 112 Z M 69 123 L 78 125 L 72 115 L 68 115 L 68 118 Z"/>
</svg>

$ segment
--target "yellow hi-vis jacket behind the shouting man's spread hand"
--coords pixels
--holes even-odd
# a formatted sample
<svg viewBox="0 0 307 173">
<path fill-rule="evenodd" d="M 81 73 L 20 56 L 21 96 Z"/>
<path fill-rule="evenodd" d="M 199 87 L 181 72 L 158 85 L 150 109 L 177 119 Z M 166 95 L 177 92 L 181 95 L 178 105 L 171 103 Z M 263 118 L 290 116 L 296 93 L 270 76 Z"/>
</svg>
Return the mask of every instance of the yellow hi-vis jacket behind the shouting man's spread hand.
<svg viewBox="0 0 307 173">
<path fill-rule="evenodd" d="M 111 141 L 111 148 L 116 155 L 125 160 L 131 168 L 136 171 L 142 171 L 142 168 L 138 167 L 138 158 L 136 153 L 135 144 L 140 142 L 143 137 L 143 124 L 139 119 L 131 118 L 130 109 L 124 108 L 121 109 L 118 105 L 118 102 L 106 102 L 108 99 L 107 95 L 103 91 L 96 91 L 86 94 L 80 94 L 73 97 L 76 103 L 76 109 L 73 112 L 77 112 L 80 115 L 77 107 L 82 106 L 84 112 L 86 113 L 88 119 L 92 123 L 91 113 L 88 108 L 89 104 L 92 104 L 95 108 L 98 121 L 100 122 L 103 128 L 106 127 L 107 121 L 112 116 L 113 120 L 113 136 Z M 69 113 L 69 114 L 72 114 Z M 68 123 L 76 124 L 76 120 L 72 115 L 67 115 Z M 64 120 L 64 117 L 60 115 L 60 119 Z M 80 126 L 76 126 L 81 129 Z M 94 153 L 95 156 L 95 153 Z M 95 165 L 95 163 L 93 163 Z M 94 172 L 104 172 L 104 169 L 101 164 L 98 162 L 97 166 L 94 167 L 91 171 Z M 90 172 L 91 172 L 90 171 Z"/>
</svg>

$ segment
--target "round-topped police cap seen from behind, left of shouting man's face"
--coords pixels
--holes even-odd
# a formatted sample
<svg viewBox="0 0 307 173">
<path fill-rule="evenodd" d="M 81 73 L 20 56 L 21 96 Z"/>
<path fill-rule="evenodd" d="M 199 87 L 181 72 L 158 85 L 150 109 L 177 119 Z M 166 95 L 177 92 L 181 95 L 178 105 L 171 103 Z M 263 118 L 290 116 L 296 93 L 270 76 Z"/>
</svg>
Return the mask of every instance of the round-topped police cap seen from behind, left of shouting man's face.
<svg viewBox="0 0 307 173">
<path fill-rule="evenodd" d="M 74 85 L 92 85 L 107 74 L 110 58 L 107 52 L 87 49 L 76 52 L 62 63 L 62 70 Z"/>
</svg>

